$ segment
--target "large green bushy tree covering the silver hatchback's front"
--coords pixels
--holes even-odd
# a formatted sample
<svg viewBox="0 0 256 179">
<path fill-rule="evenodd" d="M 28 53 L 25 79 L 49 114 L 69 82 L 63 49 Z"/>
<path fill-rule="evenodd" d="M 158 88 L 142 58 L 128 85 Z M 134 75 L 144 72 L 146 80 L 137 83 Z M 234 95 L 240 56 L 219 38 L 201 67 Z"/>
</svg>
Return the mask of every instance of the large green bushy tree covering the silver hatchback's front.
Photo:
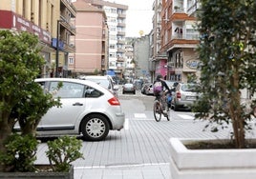
<svg viewBox="0 0 256 179">
<path fill-rule="evenodd" d="M 16 170 L 32 170 L 35 129 L 48 109 L 59 106 L 59 100 L 54 101 L 34 82 L 44 63 L 37 36 L 0 31 L 0 171 L 17 165 L 23 169 Z M 15 123 L 21 127 L 19 136 L 12 135 Z M 30 150 L 21 144 L 26 142 L 32 144 Z"/>
</svg>

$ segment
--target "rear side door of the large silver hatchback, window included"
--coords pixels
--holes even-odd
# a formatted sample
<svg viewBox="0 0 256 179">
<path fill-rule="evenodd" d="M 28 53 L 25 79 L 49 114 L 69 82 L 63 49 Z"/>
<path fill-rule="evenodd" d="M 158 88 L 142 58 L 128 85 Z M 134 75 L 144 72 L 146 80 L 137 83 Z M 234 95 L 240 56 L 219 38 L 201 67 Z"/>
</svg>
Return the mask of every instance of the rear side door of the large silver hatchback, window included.
<svg viewBox="0 0 256 179">
<path fill-rule="evenodd" d="M 50 82 L 49 91 L 54 98 L 60 97 L 61 107 L 53 107 L 42 118 L 43 130 L 61 131 L 74 130 L 75 122 L 85 110 L 84 85 L 73 82 Z"/>
</svg>

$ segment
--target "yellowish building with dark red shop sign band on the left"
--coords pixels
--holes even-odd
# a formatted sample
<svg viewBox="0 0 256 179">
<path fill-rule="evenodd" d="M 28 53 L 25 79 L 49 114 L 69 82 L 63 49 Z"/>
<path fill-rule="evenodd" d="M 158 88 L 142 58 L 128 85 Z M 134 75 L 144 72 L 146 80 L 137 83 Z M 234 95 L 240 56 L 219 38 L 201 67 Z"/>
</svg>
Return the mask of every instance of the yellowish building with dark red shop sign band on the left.
<svg viewBox="0 0 256 179">
<path fill-rule="evenodd" d="M 71 0 L 1 0 L 0 16 L 0 30 L 29 31 L 38 36 L 46 61 L 42 77 L 67 74 L 67 53 L 75 50 L 69 42 L 70 35 L 75 35 L 69 23 L 75 17 Z"/>
</svg>

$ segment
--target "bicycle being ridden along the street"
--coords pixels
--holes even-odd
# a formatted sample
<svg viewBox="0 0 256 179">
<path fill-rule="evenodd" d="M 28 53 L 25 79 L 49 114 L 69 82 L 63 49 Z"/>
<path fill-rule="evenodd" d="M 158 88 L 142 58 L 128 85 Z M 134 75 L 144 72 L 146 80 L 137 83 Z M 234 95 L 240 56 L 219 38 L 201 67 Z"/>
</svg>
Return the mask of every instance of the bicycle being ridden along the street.
<svg viewBox="0 0 256 179">
<path fill-rule="evenodd" d="M 167 113 L 163 112 L 163 107 L 169 109 L 167 101 L 166 101 L 166 94 L 169 91 L 163 91 L 160 96 L 157 96 L 153 106 L 154 117 L 157 122 L 160 122 L 161 114 L 166 117 L 167 121 L 169 121 L 169 111 Z M 164 104 L 163 104 L 164 103 Z"/>
</svg>

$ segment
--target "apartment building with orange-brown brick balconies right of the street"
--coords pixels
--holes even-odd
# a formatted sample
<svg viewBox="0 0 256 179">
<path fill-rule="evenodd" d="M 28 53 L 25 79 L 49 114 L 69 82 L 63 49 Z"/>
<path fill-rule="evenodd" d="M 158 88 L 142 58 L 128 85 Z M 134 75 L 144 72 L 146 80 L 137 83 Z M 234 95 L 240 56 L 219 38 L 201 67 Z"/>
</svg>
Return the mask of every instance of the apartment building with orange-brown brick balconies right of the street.
<svg viewBox="0 0 256 179">
<path fill-rule="evenodd" d="M 168 80 L 187 82 L 189 76 L 200 75 L 196 54 L 199 32 L 194 29 L 197 21 L 188 14 L 192 4 L 193 0 L 162 1 L 160 52 L 167 55 Z"/>
</svg>

